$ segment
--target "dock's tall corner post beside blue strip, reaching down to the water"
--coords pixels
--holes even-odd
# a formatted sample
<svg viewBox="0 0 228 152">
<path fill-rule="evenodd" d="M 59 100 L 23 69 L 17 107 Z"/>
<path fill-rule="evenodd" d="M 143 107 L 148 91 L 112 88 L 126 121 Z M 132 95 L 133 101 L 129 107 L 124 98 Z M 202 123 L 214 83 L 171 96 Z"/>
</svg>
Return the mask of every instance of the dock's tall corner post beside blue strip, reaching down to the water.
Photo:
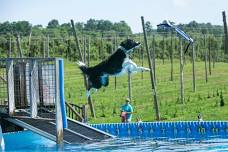
<svg viewBox="0 0 228 152">
<path fill-rule="evenodd" d="M 59 61 L 55 60 L 55 121 L 56 121 L 56 143 L 63 144 L 63 121 L 60 103 L 60 83 L 59 83 Z"/>
</svg>

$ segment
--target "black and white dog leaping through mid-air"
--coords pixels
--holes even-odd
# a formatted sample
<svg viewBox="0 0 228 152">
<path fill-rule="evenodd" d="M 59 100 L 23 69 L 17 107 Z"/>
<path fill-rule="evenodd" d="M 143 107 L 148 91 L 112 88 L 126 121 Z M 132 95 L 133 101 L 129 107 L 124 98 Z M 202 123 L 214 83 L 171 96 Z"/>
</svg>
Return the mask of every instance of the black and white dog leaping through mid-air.
<svg viewBox="0 0 228 152">
<path fill-rule="evenodd" d="M 83 62 L 78 62 L 82 73 L 88 77 L 87 97 L 90 95 L 90 89 L 100 89 L 102 86 L 108 86 L 109 76 L 120 76 L 125 73 L 150 71 L 149 68 L 138 67 L 130 58 L 130 53 L 140 46 L 139 42 L 126 39 L 109 58 L 96 66 L 87 67 Z"/>
</svg>

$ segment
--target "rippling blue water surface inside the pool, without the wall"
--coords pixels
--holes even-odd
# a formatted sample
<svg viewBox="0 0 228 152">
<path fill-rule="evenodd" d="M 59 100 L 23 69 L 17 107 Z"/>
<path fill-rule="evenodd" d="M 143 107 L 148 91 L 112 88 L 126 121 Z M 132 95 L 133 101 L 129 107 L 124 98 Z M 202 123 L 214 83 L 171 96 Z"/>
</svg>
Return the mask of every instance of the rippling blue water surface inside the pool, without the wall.
<svg viewBox="0 0 228 152">
<path fill-rule="evenodd" d="M 5 151 L 228 151 L 228 139 L 115 138 L 58 147 L 31 131 L 4 134 Z"/>
</svg>

